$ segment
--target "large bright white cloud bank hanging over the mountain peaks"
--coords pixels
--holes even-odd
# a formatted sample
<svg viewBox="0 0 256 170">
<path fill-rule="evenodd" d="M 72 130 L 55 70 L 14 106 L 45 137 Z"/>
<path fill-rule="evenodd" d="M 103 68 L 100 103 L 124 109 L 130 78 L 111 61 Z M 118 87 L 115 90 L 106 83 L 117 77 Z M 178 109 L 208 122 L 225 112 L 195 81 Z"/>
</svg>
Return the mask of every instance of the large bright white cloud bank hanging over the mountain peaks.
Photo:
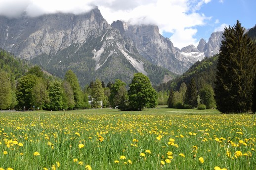
<svg viewBox="0 0 256 170">
<path fill-rule="evenodd" d="M 176 47 L 197 43 L 196 27 L 210 17 L 198 10 L 211 0 L 0 0 L 0 14 L 18 17 L 26 12 L 35 17 L 55 12 L 80 14 L 95 5 L 111 24 L 123 20 L 131 24 L 155 24 L 160 33 L 171 33 Z M 187 40 L 187 42 L 185 41 Z"/>
</svg>

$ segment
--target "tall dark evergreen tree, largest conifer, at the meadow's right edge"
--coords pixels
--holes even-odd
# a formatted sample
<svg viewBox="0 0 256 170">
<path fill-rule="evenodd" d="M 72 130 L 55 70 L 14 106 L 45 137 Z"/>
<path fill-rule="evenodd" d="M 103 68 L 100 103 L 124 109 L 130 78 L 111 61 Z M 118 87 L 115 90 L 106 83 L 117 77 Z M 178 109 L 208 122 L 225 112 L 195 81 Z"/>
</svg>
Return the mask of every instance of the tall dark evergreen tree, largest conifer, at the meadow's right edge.
<svg viewBox="0 0 256 170">
<path fill-rule="evenodd" d="M 217 109 L 223 113 L 252 108 L 256 46 L 244 32 L 239 21 L 224 29 L 214 88 Z"/>
</svg>

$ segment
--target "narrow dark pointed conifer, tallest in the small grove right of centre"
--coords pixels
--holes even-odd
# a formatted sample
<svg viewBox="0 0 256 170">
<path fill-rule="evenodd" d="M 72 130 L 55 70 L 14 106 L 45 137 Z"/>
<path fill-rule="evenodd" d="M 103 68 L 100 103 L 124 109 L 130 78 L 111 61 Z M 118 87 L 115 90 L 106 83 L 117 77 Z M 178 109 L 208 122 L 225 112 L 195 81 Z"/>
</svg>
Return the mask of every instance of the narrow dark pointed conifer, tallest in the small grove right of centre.
<svg viewBox="0 0 256 170">
<path fill-rule="evenodd" d="M 185 93 L 185 104 L 197 107 L 197 87 L 195 79 L 192 78 Z"/>
</svg>

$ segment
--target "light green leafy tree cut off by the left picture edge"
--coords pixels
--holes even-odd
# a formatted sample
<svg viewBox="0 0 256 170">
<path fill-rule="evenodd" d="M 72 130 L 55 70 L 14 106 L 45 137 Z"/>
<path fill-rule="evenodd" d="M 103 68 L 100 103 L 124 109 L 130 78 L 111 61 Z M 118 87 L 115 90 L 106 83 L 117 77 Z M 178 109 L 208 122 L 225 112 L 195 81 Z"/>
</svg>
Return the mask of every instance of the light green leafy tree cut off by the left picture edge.
<svg viewBox="0 0 256 170">
<path fill-rule="evenodd" d="M 0 109 L 9 109 L 11 105 L 11 83 L 7 74 L 0 70 Z"/>
</svg>

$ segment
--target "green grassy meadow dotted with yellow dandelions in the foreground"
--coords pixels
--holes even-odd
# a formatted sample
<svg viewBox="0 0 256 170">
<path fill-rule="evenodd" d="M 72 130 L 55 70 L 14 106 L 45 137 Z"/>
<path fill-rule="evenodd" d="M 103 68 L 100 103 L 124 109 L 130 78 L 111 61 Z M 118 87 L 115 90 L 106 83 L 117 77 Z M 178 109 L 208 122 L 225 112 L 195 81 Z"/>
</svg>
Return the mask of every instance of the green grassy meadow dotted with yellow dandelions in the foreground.
<svg viewBox="0 0 256 170">
<path fill-rule="evenodd" d="M 0 170 L 256 170 L 254 114 L 0 112 Z"/>
</svg>

